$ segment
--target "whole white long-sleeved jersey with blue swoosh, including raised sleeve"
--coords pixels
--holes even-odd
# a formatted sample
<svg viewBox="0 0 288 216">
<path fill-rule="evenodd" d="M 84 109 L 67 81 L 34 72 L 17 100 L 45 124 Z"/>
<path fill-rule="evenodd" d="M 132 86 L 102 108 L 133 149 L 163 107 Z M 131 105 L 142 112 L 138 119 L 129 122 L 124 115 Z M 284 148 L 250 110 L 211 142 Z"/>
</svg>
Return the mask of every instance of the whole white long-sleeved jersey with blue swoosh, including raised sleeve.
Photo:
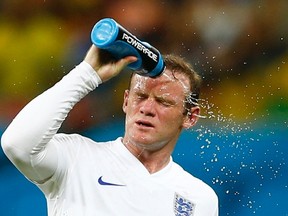
<svg viewBox="0 0 288 216">
<path fill-rule="evenodd" d="M 100 79 L 85 62 L 30 102 L 2 137 L 15 166 L 45 194 L 48 215 L 217 216 L 218 199 L 204 182 L 170 162 L 150 174 L 122 144 L 56 134 Z"/>
</svg>

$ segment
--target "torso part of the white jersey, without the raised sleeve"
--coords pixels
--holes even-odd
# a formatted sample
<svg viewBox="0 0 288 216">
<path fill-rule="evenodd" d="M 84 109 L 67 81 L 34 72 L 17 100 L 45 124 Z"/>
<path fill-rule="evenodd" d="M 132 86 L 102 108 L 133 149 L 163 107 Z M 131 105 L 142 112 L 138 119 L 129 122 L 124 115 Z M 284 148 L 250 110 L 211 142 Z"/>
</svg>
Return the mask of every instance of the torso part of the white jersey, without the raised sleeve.
<svg viewBox="0 0 288 216">
<path fill-rule="evenodd" d="M 217 197 L 172 159 L 150 174 L 121 138 L 56 135 L 57 172 L 39 185 L 51 215 L 217 215 Z M 55 183 L 57 182 L 57 183 Z"/>
</svg>

